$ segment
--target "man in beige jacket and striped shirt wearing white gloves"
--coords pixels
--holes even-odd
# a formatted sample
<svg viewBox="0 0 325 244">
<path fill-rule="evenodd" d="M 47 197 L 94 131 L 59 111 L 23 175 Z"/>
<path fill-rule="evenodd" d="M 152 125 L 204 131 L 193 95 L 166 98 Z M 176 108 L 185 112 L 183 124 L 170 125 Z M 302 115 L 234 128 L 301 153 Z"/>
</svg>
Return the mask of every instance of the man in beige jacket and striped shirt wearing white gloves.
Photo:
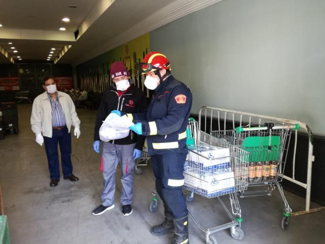
<svg viewBox="0 0 325 244">
<path fill-rule="evenodd" d="M 30 124 L 31 130 L 36 135 L 36 142 L 41 146 L 43 142 L 45 144 L 51 178 L 50 187 L 56 187 L 60 181 L 57 144 L 61 151 L 63 179 L 79 180 L 72 173 L 70 130 L 73 125 L 74 135 L 79 138 L 80 120 L 71 97 L 56 90 L 52 76 L 45 75 L 42 78 L 42 85 L 45 92 L 32 104 Z"/>
</svg>

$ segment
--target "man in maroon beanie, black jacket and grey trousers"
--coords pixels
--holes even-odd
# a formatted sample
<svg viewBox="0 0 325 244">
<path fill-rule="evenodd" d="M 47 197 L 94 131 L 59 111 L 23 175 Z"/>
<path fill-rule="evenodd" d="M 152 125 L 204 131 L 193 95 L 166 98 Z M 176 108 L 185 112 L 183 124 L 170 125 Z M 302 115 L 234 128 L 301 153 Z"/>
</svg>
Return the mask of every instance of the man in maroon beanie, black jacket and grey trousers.
<svg viewBox="0 0 325 244">
<path fill-rule="evenodd" d="M 129 73 L 123 62 L 111 65 L 110 75 L 113 85 L 108 87 L 102 97 L 102 102 L 97 112 L 93 149 L 100 153 L 99 130 L 103 120 L 113 109 L 125 113 L 142 112 L 147 107 L 147 98 L 144 92 L 129 82 Z M 92 211 L 95 216 L 102 215 L 107 210 L 114 208 L 115 172 L 117 164 L 121 168 L 121 204 L 122 214 L 131 215 L 132 197 L 134 186 L 135 160 L 142 155 L 144 136 L 138 136 L 133 131 L 125 138 L 103 142 L 102 164 L 104 189 L 102 204 Z"/>
</svg>

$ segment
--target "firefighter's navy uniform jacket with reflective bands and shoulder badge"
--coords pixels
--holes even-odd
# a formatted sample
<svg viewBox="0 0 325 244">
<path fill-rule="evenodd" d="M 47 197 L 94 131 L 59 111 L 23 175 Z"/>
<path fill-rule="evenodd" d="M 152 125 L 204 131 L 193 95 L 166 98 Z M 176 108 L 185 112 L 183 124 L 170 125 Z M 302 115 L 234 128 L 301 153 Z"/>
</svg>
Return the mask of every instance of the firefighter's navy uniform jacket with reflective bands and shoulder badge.
<svg viewBox="0 0 325 244">
<path fill-rule="evenodd" d="M 187 154 L 186 128 L 191 106 L 190 89 L 170 75 L 156 88 L 144 112 L 127 116 L 134 124 L 142 123 L 150 155 Z"/>
</svg>

